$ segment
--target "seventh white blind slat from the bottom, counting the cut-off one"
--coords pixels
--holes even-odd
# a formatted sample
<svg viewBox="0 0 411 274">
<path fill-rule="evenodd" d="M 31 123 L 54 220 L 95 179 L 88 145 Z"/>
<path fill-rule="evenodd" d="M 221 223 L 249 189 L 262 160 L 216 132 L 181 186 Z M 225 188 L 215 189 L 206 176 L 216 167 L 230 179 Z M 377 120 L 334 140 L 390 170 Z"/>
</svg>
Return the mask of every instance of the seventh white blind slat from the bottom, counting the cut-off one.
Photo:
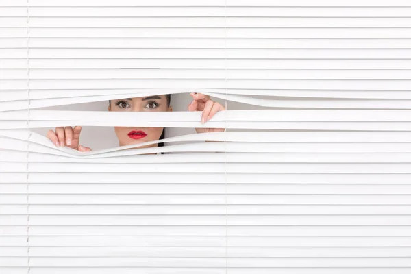
<svg viewBox="0 0 411 274">
<path fill-rule="evenodd" d="M 258 188 L 258 186 L 256 186 Z M 7 194 L 7 193 L 6 193 Z M 32 192 L 29 192 L 31 195 Z M 116 193 L 114 193 L 116 194 Z M 301 193 L 295 192 L 295 195 Z M 362 192 L 358 192 L 362 194 Z M 252 205 L 0 205 L 2 215 L 411 215 L 411 206 Z M 256 234 L 258 235 L 258 234 Z M 411 236 L 411 235 L 410 235 Z"/>
</svg>

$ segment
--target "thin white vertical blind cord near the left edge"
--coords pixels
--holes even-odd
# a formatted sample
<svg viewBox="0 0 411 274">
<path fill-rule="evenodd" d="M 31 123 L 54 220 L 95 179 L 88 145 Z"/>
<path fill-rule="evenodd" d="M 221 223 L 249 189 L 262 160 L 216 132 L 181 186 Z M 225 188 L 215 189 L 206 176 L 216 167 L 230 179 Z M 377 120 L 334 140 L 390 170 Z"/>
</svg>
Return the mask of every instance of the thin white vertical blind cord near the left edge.
<svg viewBox="0 0 411 274">
<path fill-rule="evenodd" d="M 30 121 L 30 77 L 29 77 L 29 20 L 30 20 L 30 15 L 29 15 L 29 0 L 27 0 L 27 101 L 28 101 L 28 107 L 27 107 L 27 132 L 29 132 L 28 138 L 27 138 L 27 177 L 26 177 L 26 201 L 27 201 L 27 239 L 26 239 L 26 245 L 27 245 L 27 273 L 30 273 L 30 203 L 29 203 L 29 148 L 30 148 L 30 138 L 32 137 L 32 131 L 30 130 L 29 127 L 29 121 Z"/>
</svg>

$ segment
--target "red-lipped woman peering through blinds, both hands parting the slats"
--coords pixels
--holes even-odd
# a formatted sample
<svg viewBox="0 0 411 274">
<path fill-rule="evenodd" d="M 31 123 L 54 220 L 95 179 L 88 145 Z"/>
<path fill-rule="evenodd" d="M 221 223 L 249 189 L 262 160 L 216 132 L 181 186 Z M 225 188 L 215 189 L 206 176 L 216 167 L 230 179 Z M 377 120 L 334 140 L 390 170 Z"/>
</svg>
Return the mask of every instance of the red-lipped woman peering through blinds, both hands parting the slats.
<svg viewBox="0 0 411 274">
<path fill-rule="evenodd" d="M 201 123 L 206 123 L 216 112 L 225 110 L 223 105 L 212 101 L 210 96 L 201 93 L 190 93 L 192 101 L 188 105 L 189 111 L 202 111 Z M 127 99 L 110 100 L 108 111 L 173 111 L 170 105 L 171 95 L 155 95 L 149 97 L 134 97 Z M 134 145 L 140 142 L 149 142 L 164 138 L 164 127 L 114 127 L 119 146 Z M 224 129 L 216 128 L 196 128 L 197 133 L 203 132 L 222 132 Z M 80 132 L 82 127 L 56 127 L 55 132 L 50 129 L 47 132 L 47 137 L 54 143 L 56 147 L 70 147 L 78 151 L 91 151 L 90 147 L 79 145 Z M 162 144 L 145 145 L 143 147 L 158 147 Z"/>
</svg>

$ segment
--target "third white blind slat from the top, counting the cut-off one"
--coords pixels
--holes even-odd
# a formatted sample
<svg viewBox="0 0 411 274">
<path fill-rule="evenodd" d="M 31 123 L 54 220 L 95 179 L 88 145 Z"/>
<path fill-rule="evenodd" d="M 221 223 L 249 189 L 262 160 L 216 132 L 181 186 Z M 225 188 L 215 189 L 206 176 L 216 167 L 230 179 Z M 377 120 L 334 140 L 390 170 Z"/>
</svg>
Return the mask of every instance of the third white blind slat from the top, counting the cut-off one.
<svg viewBox="0 0 411 274">
<path fill-rule="evenodd" d="M 58 2 L 55 2 L 58 3 Z M 93 3 L 93 2 L 91 2 Z M 197 1 L 191 1 L 197 3 Z M 331 2 L 330 2 L 331 3 Z M 333 2 L 334 3 L 334 2 Z M 0 17 L 1 27 L 411 27 L 407 17 Z"/>
</svg>

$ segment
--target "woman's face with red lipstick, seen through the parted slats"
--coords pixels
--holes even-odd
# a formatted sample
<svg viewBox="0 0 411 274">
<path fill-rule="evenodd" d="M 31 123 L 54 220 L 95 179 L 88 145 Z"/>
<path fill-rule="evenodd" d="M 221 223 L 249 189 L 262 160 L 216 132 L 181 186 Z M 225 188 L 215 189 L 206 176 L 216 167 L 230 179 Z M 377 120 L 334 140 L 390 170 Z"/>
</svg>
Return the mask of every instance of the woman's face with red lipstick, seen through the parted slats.
<svg viewBox="0 0 411 274">
<path fill-rule="evenodd" d="M 167 106 L 166 95 L 149 97 L 134 97 L 112 100 L 108 111 L 116 112 L 162 112 L 173 111 Z M 119 145 L 134 145 L 141 142 L 149 142 L 160 139 L 164 127 L 114 127 Z M 145 145 L 143 147 L 157 147 L 158 144 Z M 142 147 L 139 147 L 142 148 Z"/>
</svg>

